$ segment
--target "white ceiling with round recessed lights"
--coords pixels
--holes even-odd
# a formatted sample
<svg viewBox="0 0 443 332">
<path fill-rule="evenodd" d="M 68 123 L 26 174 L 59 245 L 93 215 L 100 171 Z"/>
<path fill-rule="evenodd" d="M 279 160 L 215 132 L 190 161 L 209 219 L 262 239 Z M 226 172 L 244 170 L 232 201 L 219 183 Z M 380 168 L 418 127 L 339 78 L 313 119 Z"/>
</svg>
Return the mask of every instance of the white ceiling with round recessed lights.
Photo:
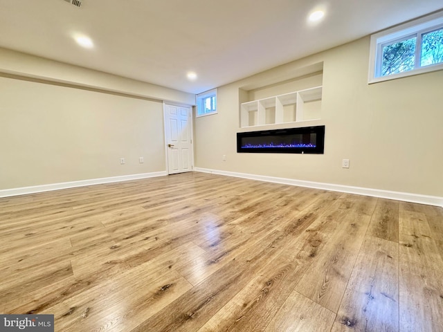
<svg viewBox="0 0 443 332">
<path fill-rule="evenodd" d="M 317 7 L 325 19 L 307 24 Z M 82 0 L 81 8 L 0 0 L 0 46 L 200 93 L 442 8 L 442 0 Z M 80 48 L 73 33 L 94 48 Z"/>
</svg>

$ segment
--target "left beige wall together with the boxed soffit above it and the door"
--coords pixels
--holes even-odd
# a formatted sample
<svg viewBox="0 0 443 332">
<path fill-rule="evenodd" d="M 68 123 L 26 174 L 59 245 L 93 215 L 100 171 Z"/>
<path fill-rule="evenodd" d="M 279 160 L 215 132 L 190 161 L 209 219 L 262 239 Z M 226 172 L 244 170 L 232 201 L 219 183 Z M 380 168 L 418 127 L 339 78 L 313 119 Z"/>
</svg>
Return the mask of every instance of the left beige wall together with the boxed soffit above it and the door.
<svg viewBox="0 0 443 332">
<path fill-rule="evenodd" d="M 195 95 L 0 48 L 0 190 L 164 172 L 163 100 Z"/>
</svg>

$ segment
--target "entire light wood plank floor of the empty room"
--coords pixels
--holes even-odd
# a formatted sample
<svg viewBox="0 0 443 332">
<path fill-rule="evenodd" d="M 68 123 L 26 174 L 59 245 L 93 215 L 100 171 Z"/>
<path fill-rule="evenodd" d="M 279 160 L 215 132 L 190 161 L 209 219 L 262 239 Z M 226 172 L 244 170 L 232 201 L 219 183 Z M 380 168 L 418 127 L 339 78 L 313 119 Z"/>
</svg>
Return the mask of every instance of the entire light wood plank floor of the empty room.
<svg viewBox="0 0 443 332">
<path fill-rule="evenodd" d="M 55 331 L 443 331 L 443 209 L 203 173 L 0 199 L 0 313 Z"/>
</svg>

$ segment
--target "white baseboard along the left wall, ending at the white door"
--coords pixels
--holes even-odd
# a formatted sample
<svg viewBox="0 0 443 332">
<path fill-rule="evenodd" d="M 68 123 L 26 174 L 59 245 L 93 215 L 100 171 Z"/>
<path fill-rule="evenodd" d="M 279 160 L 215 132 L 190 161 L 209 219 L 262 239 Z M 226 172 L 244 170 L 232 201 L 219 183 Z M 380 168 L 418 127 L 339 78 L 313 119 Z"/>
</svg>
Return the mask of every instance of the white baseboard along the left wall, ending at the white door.
<svg viewBox="0 0 443 332">
<path fill-rule="evenodd" d="M 85 187 L 87 185 L 100 185 L 103 183 L 138 180 L 141 178 L 154 178 L 156 176 L 165 176 L 165 175 L 168 175 L 168 172 L 166 172 L 166 171 L 152 172 L 152 173 L 143 173 L 143 174 L 112 176 L 110 178 L 91 178 L 89 180 L 63 182 L 63 183 L 52 183 L 49 185 L 34 185 L 32 187 L 20 187 L 20 188 L 0 190 L 0 197 L 35 194 L 37 192 L 49 192 L 51 190 L 61 190 L 61 189 L 68 189 L 68 188 L 73 188 L 73 187 Z"/>
</svg>

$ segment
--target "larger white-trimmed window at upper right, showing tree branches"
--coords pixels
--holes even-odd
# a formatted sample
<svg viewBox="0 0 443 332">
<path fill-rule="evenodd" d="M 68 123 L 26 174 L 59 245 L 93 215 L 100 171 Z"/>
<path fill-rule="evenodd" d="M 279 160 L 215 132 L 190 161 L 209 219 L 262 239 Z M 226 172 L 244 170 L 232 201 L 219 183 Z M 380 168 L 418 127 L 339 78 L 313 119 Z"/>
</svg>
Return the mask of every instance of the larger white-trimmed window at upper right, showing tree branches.
<svg viewBox="0 0 443 332">
<path fill-rule="evenodd" d="M 371 36 L 369 83 L 443 69 L 443 12 Z"/>
</svg>

